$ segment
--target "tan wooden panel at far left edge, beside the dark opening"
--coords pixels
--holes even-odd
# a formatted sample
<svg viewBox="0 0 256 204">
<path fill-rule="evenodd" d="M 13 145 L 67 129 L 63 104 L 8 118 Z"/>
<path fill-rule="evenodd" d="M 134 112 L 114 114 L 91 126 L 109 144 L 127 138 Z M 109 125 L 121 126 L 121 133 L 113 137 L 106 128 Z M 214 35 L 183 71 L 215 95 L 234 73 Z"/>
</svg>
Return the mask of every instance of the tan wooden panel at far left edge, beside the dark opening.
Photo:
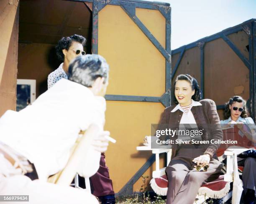
<svg viewBox="0 0 256 204">
<path fill-rule="evenodd" d="M 0 1 L 0 117 L 6 110 L 16 109 L 18 2 Z"/>
</svg>

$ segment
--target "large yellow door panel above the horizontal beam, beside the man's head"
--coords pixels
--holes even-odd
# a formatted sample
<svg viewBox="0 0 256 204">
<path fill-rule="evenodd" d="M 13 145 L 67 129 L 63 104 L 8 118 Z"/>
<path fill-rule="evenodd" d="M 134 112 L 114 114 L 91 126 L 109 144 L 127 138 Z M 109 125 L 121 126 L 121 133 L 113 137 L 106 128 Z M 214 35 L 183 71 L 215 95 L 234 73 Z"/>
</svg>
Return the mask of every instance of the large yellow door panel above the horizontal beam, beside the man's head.
<svg viewBox="0 0 256 204">
<path fill-rule="evenodd" d="M 107 5 L 98 15 L 98 53 L 110 65 L 107 94 L 161 96 L 165 59 L 159 50 L 120 6 Z"/>
</svg>

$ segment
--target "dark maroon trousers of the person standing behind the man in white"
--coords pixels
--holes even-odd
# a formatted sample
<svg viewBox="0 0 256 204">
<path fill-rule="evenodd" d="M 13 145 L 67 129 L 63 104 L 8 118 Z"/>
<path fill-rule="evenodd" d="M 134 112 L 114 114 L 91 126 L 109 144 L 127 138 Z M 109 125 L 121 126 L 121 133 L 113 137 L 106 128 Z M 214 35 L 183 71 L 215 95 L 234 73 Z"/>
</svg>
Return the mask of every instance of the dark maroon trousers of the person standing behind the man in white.
<svg viewBox="0 0 256 204">
<path fill-rule="evenodd" d="M 93 188 L 93 195 L 96 197 L 114 195 L 112 180 L 109 177 L 109 170 L 105 162 L 105 154 L 100 157 L 100 168 L 97 173 L 90 177 Z"/>
</svg>

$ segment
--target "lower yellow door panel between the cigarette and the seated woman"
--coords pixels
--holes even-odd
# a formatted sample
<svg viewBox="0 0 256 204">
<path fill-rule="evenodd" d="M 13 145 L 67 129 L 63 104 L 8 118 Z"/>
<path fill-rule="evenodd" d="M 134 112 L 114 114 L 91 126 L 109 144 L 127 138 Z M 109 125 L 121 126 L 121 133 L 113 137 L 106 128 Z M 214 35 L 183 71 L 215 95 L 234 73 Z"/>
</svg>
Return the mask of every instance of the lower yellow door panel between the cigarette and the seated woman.
<svg viewBox="0 0 256 204">
<path fill-rule="evenodd" d="M 118 192 L 151 156 L 149 151 L 137 151 L 143 138 L 151 134 L 151 124 L 159 122 L 164 107 L 160 103 L 107 101 L 105 130 L 117 140 L 106 152 L 115 192 Z M 154 167 L 155 168 L 155 167 Z M 145 175 L 151 175 L 150 168 Z M 134 190 L 138 189 L 136 183 Z"/>
</svg>

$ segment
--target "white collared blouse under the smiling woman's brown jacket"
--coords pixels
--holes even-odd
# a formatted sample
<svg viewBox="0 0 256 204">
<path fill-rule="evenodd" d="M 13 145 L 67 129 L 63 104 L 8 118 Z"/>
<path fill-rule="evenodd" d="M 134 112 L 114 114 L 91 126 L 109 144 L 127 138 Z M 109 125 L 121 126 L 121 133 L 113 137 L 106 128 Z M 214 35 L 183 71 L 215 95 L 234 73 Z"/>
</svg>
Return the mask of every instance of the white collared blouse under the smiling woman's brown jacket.
<svg viewBox="0 0 256 204">
<path fill-rule="evenodd" d="M 202 104 L 198 101 L 194 101 L 192 99 L 192 107 L 193 106 L 201 106 Z M 184 129 L 186 127 L 184 127 L 184 125 L 182 124 L 188 124 L 190 125 L 191 128 L 195 129 L 197 128 L 197 124 L 196 124 L 196 121 L 195 121 L 195 117 L 193 115 L 193 113 L 191 112 L 191 109 L 189 110 L 189 112 L 184 113 L 184 110 L 182 109 L 182 107 L 180 106 L 180 104 L 177 104 L 176 107 L 174 107 L 174 109 L 172 109 L 171 112 L 175 112 L 177 110 L 180 110 L 183 112 L 182 114 L 182 118 L 180 119 L 180 122 L 179 122 L 179 129 Z M 179 135 L 181 136 L 181 135 Z M 183 140 L 190 140 L 192 137 L 188 136 L 188 137 L 185 137 L 185 136 L 181 136 L 179 137 L 180 139 L 183 139 Z M 202 139 L 200 136 L 194 136 L 193 139 Z"/>
</svg>

